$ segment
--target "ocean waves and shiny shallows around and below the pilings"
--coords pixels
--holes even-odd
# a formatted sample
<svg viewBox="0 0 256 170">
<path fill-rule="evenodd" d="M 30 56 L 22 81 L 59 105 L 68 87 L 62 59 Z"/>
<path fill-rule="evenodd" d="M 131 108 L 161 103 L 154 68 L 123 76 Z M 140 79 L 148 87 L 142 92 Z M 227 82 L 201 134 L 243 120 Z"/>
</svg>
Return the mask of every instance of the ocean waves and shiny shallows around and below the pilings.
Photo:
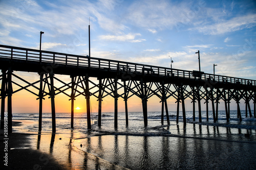
<svg viewBox="0 0 256 170">
<path fill-rule="evenodd" d="M 237 111 L 230 111 L 227 123 L 225 111 L 219 111 L 214 123 L 212 113 L 207 122 L 203 111 L 199 123 L 198 112 L 196 116 L 193 122 L 193 112 L 186 111 L 184 126 L 181 112 L 179 124 L 176 112 L 169 112 L 167 126 L 166 117 L 161 125 L 161 112 L 148 112 L 145 127 L 142 112 L 129 112 L 129 126 L 120 112 L 114 128 L 114 113 L 102 113 L 101 127 L 97 113 L 92 113 L 88 130 L 86 113 L 74 115 L 74 129 L 70 113 L 56 113 L 56 133 L 51 133 L 51 113 L 42 116 L 42 132 L 38 132 L 38 113 L 14 113 L 13 119 L 26 124 L 13 131 L 35 134 L 32 147 L 52 154 L 67 169 L 110 169 L 102 161 L 120 169 L 256 169 L 256 118 L 245 118 L 242 111 L 240 122 Z"/>
</svg>

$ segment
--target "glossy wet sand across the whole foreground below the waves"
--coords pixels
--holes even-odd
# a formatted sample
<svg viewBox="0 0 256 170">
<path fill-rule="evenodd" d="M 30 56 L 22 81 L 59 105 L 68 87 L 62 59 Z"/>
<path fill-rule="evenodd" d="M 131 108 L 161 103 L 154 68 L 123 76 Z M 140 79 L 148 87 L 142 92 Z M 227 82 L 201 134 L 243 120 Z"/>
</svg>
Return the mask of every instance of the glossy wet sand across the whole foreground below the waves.
<svg viewBox="0 0 256 170">
<path fill-rule="evenodd" d="M 31 122 L 13 129 L 26 124 Z M 195 124 L 156 128 L 162 132 L 14 132 L 8 140 L 8 168 L 2 163 L 1 169 L 256 169 L 255 130 L 248 138 L 245 129 Z"/>
</svg>

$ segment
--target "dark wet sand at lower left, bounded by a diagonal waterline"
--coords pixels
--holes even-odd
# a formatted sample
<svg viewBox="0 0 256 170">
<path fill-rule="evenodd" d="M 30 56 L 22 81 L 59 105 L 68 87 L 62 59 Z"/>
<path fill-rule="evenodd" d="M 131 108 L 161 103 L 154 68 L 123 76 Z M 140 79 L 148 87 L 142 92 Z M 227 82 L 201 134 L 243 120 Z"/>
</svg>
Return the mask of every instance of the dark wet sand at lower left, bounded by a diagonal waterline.
<svg viewBox="0 0 256 170">
<path fill-rule="evenodd" d="M 13 129 L 20 124 L 31 122 L 13 122 Z M 2 152 L 5 149 L 3 134 L 2 130 L 1 160 L 5 156 L 5 152 Z M 57 138 L 59 136 L 62 138 Z M 67 134 L 13 132 L 8 134 L 8 138 L 8 166 L 1 161 L 1 169 L 126 169 L 67 144 L 66 141 L 71 140 Z M 48 139 L 51 139 L 50 143 Z M 67 150 L 69 154 L 65 153 Z"/>
</svg>

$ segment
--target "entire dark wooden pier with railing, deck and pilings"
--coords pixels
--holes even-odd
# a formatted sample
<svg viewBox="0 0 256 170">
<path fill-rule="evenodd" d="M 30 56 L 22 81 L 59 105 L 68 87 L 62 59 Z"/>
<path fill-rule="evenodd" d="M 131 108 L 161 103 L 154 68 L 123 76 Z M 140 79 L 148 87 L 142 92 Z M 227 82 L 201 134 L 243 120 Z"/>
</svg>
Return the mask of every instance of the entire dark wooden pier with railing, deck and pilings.
<svg viewBox="0 0 256 170">
<path fill-rule="evenodd" d="M 230 118 L 230 101 L 237 103 L 238 118 L 242 121 L 239 103 L 245 101 L 246 117 L 256 117 L 256 81 L 227 77 L 221 75 L 207 74 L 202 71 L 188 71 L 159 67 L 153 65 L 137 64 L 102 58 L 63 54 L 49 51 L 33 50 L 15 46 L 0 45 L 0 69 L 1 80 L 1 129 L 4 129 L 5 99 L 7 98 L 8 131 L 12 132 L 12 94 L 20 90 L 27 90 L 36 95 L 39 100 L 39 131 L 42 121 L 42 101 L 48 96 L 51 99 L 52 108 L 52 131 L 56 131 L 55 124 L 55 101 L 54 97 L 64 93 L 71 100 L 71 128 L 74 119 L 74 100 L 83 95 L 87 101 L 87 126 L 91 129 L 90 96 L 98 99 L 98 126 L 101 126 L 101 102 L 105 96 L 112 96 L 115 100 L 114 126 L 118 126 L 118 99 L 125 102 L 126 125 L 128 121 L 127 101 L 136 95 L 142 101 L 144 125 L 147 126 L 147 99 L 156 95 L 162 103 L 161 122 L 164 123 L 164 109 L 169 125 L 167 99 L 173 97 L 177 100 L 177 123 L 179 118 L 179 105 L 182 105 L 183 123 L 186 124 L 185 99 L 193 102 L 193 117 L 195 121 L 195 105 L 198 103 L 199 122 L 202 122 L 201 103 L 206 105 L 207 120 L 208 104 L 211 104 L 214 122 L 218 120 L 218 104 L 224 101 L 226 120 Z M 13 71 L 37 72 L 38 81 L 30 83 L 23 78 L 13 74 Z M 65 83 L 56 78 L 55 75 L 68 75 L 70 83 Z M 26 86 L 12 81 L 12 77 L 26 83 Z M 95 77 L 98 83 L 90 80 Z M 62 87 L 55 87 L 54 81 L 61 82 Z M 93 85 L 89 87 L 89 82 Z M 39 87 L 35 84 L 39 83 Z M 12 84 L 19 86 L 17 90 L 12 89 Z M 33 87 L 38 93 L 30 90 Z M 82 89 L 82 90 L 79 90 Z M 71 89 L 71 94 L 66 91 Z M 91 92 L 93 89 L 93 92 Z M 96 89 L 96 90 L 95 90 Z M 250 101 L 253 101 L 254 112 L 252 114 Z"/>
</svg>

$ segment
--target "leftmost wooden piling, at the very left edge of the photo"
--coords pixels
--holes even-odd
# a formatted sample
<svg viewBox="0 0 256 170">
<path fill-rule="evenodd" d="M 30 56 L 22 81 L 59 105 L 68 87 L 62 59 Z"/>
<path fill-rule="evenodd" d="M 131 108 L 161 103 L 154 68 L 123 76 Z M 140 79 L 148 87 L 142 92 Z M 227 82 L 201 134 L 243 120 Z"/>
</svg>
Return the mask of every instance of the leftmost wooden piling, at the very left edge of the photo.
<svg viewBox="0 0 256 170">
<path fill-rule="evenodd" d="M 5 98 L 6 98 L 6 70 L 2 69 L 2 85 L 1 85 L 1 125 L 0 129 L 4 129 L 5 117 Z"/>
</svg>

